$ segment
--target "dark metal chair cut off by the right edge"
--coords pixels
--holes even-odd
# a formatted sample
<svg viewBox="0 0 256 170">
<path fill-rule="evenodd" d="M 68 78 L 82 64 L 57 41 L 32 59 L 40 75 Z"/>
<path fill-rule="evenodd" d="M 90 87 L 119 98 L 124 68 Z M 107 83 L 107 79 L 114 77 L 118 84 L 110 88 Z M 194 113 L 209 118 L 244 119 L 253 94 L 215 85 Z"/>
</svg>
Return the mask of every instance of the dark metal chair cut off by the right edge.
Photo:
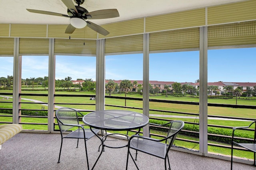
<svg viewBox="0 0 256 170">
<path fill-rule="evenodd" d="M 237 141 L 234 138 L 234 132 L 235 130 L 239 129 L 239 130 L 248 130 L 247 128 L 252 127 L 252 125 L 254 124 L 254 140 L 252 142 L 248 142 L 248 143 L 241 143 L 242 138 L 239 138 Z M 233 128 L 233 132 L 232 132 L 232 143 L 231 143 L 231 170 L 232 170 L 232 166 L 233 166 L 233 149 L 234 149 L 234 144 L 242 147 L 242 148 L 246 148 L 247 150 L 254 152 L 254 162 L 253 165 L 256 166 L 256 162 L 255 162 L 255 153 L 256 153 L 256 121 L 252 122 L 248 127 L 234 127 Z"/>
</svg>

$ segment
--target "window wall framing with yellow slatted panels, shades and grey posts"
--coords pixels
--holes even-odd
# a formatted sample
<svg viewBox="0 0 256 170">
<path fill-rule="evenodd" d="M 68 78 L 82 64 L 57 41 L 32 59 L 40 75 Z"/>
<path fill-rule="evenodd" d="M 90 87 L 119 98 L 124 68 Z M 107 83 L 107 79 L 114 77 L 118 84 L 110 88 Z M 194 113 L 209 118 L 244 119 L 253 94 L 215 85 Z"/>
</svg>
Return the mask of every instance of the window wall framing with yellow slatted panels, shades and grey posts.
<svg viewBox="0 0 256 170">
<path fill-rule="evenodd" d="M 111 32 L 106 37 L 89 28 L 76 29 L 73 34 L 67 35 L 64 34 L 66 25 L 0 24 L 0 56 L 14 57 L 12 122 L 0 123 L 20 123 L 22 55 L 47 55 L 49 58 L 48 91 L 40 94 L 47 98 L 44 104 L 48 104 L 45 109 L 48 119 L 42 123 L 47 126 L 47 132 L 54 131 L 55 123 L 56 55 L 96 57 L 96 110 L 105 107 L 105 55 L 142 54 L 143 86 L 148 87 L 150 53 L 197 51 L 200 87 L 207 89 L 208 49 L 256 47 L 255 9 L 256 1 L 246 0 L 105 24 L 102 27 Z M 200 89 L 198 102 L 200 132 L 197 154 L 201 155 L 208 154 L 206 89 Z M 0 106 L 4 108 L 4 104 L 1 102 Z M 149 110 L 149 94 L 146 89 L 143 93 L 143 114 L 149 116 Z"/>
</svg>

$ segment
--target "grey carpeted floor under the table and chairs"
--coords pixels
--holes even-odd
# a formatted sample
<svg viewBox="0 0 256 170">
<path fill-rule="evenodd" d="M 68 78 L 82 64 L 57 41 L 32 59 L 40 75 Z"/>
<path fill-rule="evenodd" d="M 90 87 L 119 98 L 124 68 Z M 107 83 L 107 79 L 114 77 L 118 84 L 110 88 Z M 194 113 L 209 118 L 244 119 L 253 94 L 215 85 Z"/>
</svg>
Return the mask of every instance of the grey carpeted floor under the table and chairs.
<svg viewBox="0 0 256 170">
<path fill-rule="evenodd" d="M 81 170 L 87 169 L 84 143 L 76 139 L 64 139 L 60 163 L 60 134 L 21 132 L 2 144 L 0 170 Z M 108 141 L 114 146 L 126 140 Z M 100 152 L 100 140 L 94 136 L 87 141 L 89 165 L 92 168 Z M 105 148 L 94 170 L 125 170 L 127 148 Z M 230 161 L 198 156 L 170 150 L 172 170 L 229 170 Z M 139 153 L 137 164 L 140 170 L 164 170 L 164 160 Z M 256 170 L 252 165 L 234 162 L 234 170 Z M 129 158 L 128 170 L 136 170 Z"/>
</svg>

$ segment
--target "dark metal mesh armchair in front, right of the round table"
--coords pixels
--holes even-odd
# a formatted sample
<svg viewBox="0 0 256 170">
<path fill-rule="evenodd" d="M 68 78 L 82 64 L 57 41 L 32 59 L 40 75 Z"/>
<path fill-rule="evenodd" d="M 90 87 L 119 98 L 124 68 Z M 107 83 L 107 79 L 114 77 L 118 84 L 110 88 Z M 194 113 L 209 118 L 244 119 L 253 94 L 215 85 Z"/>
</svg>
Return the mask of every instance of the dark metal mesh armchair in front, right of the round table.
<svg viewBox="0 0 256 170">
<path fill-rule="evenodd" d="M 156 124 L 149 123 L 149 125 L 156 125 Z M 136 165 L 136 168 L 139 169 L 135 162 L 135 160 L 137 160 L 137 154 L 138 154 L 137 152 L 138 151 L 164 159 L 165 169 L 166 169 L 166 159 L 167 159 L 169 169 L 171 169 L 170 161 L 169 161 L 169 157 L 168 157 L 168 151 L 170 150 L 177 134 L 184 127 L 184 122 L 183 121 L 171 121 L 164 125 L 156 125 L 156 126 L 160 126 L 160 127 L 165 126 L 166 127 L 166 125 L 169 126 L 169 129 L 168 129 L 168 133 L 167 133 L 166 137 L 163 139 L 155 139 L 155 138 L 151 138 L 151 137 L 140 136 L 138 134 L 132 135 L 130 137 L 130 140 L 128 142 L 126 170 L 128 168 L 129 154 L 130 154 L 134 164 Z M 135 160 L 132 157 L 132 154 L 130 153 L 130 149 L 136 150 Z"/>
</svg>

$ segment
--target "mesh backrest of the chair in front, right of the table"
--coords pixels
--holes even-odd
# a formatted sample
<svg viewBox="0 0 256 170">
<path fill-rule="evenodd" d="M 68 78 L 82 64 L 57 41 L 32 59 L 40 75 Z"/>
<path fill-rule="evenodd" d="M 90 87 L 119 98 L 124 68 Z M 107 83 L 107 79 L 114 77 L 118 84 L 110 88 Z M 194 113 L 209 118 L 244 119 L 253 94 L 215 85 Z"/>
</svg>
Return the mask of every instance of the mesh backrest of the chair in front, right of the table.
<svg viewBox="0 0 256 170">
<path fill-rule="evenodd" d="M 184 127 L 184 122 L 183 121 L 172 121 L 170 123 L 170 128 L 168 130 L 168 134 L 166 136 L 166 144 L 168 144 L 168 149 L 172 146 L 176 136 L 182 130 Z"/>
</svg>

